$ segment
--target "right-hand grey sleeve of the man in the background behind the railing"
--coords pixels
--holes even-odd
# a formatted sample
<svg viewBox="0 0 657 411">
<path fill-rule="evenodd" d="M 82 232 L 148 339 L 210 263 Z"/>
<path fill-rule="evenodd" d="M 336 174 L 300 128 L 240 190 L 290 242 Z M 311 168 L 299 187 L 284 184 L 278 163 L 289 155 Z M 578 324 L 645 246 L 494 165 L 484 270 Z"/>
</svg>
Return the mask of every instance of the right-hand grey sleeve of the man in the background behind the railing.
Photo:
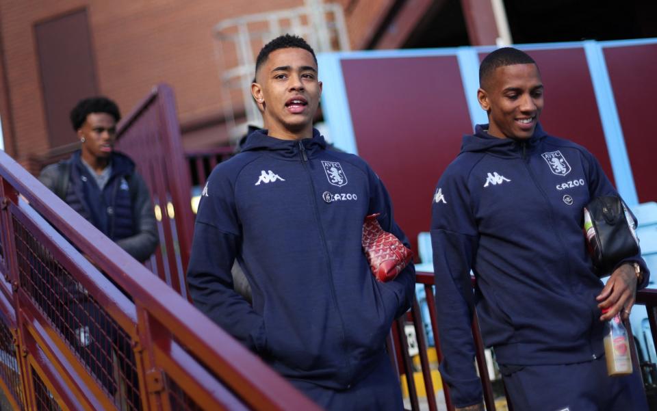
<svg viewBox="0 0 657 411">
<path fill-rule="evenodd" d="M 157 247 L 157 223 L 155 222 L 149 187 L 146 186 L 144 179 L 138 173 L 134 173 L 131 178 L 134 179 L 131 183 L 136 185 L 136 197 L 132 205 L 137 224 L 136 234 L 120 239 L 116 241 L 116 244 L 137 261 L 143 262 L 155 252 Z"/>
</svg>

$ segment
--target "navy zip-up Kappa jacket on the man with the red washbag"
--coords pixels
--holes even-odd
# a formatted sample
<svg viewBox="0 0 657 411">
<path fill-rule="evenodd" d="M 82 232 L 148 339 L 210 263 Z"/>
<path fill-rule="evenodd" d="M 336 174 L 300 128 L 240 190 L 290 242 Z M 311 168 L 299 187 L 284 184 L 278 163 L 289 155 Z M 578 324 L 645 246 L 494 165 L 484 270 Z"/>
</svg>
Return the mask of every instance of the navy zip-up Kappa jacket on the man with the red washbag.
<svg viewBox="0 0 657 411">
<path fill-rule="evenodd" d="M 376 282 L 363 254 L 366 215 L 408 241 L 378 176 L 355 155 L 257 131 L 213 170 L 198 205 L 188 284 L 194 304 L 285 377 L 335 389 L 374 367 L 415 269 Z M 253 306 L 233 290 L 237 257 Z M 381 358 L 380 356 L 378 358 Z"/>
</svg>

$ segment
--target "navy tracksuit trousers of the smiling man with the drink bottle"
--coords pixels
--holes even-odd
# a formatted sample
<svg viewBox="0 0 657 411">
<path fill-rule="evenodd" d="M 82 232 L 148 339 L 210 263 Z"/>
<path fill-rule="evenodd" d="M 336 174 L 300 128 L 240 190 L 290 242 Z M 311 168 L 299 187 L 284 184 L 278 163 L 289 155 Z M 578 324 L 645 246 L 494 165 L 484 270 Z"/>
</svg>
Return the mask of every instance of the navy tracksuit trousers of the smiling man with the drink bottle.
<svg viewBox="0 0 657 411">
<path fill-rule="evenodd" d="M 500 365 L 513 411 L 647 411 L 639 370 L 609 377 L 604 356 L 564 365 Z"/>
</svg>

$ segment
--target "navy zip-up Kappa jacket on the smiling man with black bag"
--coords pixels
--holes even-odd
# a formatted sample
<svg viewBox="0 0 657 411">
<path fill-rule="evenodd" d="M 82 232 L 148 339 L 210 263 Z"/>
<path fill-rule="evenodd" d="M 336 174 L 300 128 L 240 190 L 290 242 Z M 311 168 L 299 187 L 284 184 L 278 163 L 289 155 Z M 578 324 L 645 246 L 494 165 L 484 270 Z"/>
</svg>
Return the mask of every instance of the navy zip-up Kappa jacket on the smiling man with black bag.
<svg viewBox="0 0 657 411">
<path fill-rule="evenodd" d="M 476 306 L 500 364 L 568 364 L 604 353 L 603 323 L 583 234 L 583 207 L 617 194 L 582 146 L 537 125 L 526 141 L 478 125 L 440 178 L 431 241 L 443 379 L 456 406 L 481 401 L 470 332 Z M 640 254 L 636 261 L 649 272 Z M 470 270 L 476 288 L 470 283 Z"/>
</svg>

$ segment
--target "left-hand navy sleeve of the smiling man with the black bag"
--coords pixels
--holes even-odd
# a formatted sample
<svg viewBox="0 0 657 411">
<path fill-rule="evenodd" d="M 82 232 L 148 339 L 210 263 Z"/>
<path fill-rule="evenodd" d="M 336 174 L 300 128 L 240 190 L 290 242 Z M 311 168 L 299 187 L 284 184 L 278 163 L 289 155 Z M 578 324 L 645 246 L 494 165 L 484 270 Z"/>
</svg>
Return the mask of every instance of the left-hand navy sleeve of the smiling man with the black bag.
<svg viewBox="0 0 657 411">
<path fill-rule="evenodd" d="M 465 180 L 448 172 L 441 177 L 433 198 L 431 246 L 439 341 L 444 354 L 440 372 L 454 405 L 471 406 L 482 401 L 471 328 L 474 293 L 470 269 L 478 230 Z"/>
</svg>

